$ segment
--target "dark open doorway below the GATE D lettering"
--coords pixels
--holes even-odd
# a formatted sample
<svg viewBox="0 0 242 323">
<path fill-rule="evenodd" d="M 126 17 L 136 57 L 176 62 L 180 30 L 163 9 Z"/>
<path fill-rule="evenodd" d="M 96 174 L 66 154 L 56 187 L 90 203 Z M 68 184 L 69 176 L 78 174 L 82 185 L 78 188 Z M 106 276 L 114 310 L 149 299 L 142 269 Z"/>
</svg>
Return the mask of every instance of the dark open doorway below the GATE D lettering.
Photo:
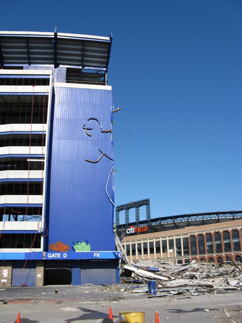
<svg viewBox="0 0 242 323">
<path fill-rule="evenodd" d="M 72 269 L 45 268 L 45 285 L 70 285 L 72 283 Z"/>
</svg>

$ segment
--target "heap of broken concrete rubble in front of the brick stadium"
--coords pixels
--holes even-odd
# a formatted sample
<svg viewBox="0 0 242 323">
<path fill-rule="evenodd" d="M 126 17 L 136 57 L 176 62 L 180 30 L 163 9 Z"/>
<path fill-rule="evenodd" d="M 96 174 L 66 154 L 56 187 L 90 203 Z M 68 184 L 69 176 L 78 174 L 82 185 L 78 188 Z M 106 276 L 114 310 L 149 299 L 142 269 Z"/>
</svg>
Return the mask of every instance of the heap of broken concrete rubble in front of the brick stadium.
<svg viewBox="0 0 242 323">
<path fill-rule="evenodd" d="M 159 271 L 154 273 L 140 269 L 150 267 L 158 268 Z M 122 279 L 124 283 L 132 286 L 132 292 L 148 292 L 147 285 L 137 285 L 136 280 L 142 283 L 151 279 L 156 280 L 157 296 L 179 293 L 197 295 L 204 292 L 242 290 L 241 262 L 211 263 L 194 260 L 187 264 L 175 265 L 160 259 L 139 260 L 135 261 L 135 266 L 124 265 L 121 276 L 124 276 Z"/>
</svg>

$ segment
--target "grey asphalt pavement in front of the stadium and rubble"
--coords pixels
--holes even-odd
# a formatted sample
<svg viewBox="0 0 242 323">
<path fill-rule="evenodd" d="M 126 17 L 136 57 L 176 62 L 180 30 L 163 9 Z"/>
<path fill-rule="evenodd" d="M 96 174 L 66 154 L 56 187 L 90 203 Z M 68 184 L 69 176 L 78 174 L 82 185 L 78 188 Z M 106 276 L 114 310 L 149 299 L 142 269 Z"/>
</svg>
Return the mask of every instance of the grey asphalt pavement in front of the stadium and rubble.
<svg viewBox="0 0 242 323">
<path fill-rule="evenodd" d="M 133 286 L 135 287 L 135 286 Z M 0 323 L 119 323 L 121 312 L 144 312 L 145 323 L 242 323 L 242 292 L 149 295 L 129 285 L 11 287 L 0 290 Z M 124 323 L 124 322 L 123 322 Z M 141 323 L 141 322 L 139 322 Z"/>
</svg>

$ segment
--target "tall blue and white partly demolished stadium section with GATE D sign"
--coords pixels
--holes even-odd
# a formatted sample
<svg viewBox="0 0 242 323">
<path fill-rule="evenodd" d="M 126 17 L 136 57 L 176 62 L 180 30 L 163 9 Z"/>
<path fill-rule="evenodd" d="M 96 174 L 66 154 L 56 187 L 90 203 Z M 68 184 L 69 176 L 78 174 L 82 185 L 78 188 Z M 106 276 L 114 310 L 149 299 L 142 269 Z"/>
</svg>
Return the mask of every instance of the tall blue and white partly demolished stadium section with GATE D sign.
<svg viewBox="0 0 242 323">
<path fill-rule="evenodd" d="M 1 287 L 119 283 L 111 43 L 0 32 Z"/>
</svg>

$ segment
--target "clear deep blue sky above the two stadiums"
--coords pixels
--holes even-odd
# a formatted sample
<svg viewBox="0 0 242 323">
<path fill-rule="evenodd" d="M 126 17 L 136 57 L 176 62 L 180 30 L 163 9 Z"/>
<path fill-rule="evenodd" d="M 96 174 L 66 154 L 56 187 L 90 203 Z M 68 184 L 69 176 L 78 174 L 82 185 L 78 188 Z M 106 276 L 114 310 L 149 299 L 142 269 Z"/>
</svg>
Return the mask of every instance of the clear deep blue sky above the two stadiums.
<svg viewBox="0 0 242 323">
<path fill-rule="evenodd" d="M 241 0 L 13 0 L 0 16 L 1 31 L 113 33 L 116 205 L 242 210 Z"/>
</svg>

